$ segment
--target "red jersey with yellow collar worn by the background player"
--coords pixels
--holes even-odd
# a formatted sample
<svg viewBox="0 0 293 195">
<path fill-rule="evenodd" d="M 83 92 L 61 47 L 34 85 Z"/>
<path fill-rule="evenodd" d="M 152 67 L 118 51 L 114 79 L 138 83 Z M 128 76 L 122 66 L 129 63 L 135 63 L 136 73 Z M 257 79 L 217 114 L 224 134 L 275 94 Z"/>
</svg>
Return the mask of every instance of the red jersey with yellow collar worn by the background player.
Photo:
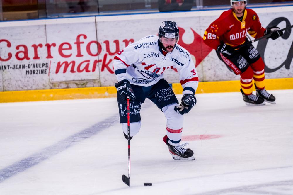
<svg viewBox="0 0 293 195">
<path fill-rule="evenodd" d="M 263 36 L 265 28 L 260 24 L 258 15 L 252 9 L 245 9 L 240 21 L 232 9 L 224 11 L 205 31 L 204 43 L 217 49 L 221 42 L 236 47 L 246 41 L 246 34 L 254 38 Z"/>
</svg>

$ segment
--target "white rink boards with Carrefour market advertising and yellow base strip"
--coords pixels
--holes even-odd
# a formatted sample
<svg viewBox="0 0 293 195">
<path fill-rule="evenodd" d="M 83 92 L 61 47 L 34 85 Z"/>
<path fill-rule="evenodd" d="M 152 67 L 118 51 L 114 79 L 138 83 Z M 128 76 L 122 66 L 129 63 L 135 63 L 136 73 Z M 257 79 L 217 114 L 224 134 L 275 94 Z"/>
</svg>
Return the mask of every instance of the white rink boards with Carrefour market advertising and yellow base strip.
<svg viewBox="0 0 293 195">
<path fill-rule="evenodd" d="M 293 23 L 292 8 L 293 6 L 275 6 L 253 10 L 258 13 L 264 27 L 276 25 L 285 28 Z M 180 28 L 179 44 L 192 56 L 200 82 L 204 82 L 200 87 L 215 84 L 209 82 L 234 83 L 233 81 L 239 80 L 239 77 L 231 73 L 218 59 L 215 51 L 207 47 L 202 40 L 205 29 L 223 11 L 1 22 L 0 91 L 4 92 L 0 92 L 0 101 L 4 102 L 4 96 L 19 96 L 19 93 L 25 96 L 32 94 L 33 99 L 37 98 L 38 94 L 42 94 L 42 97 L 47 96 L 44 94 L 50 94 L 49 99 L 52 98 L 52 94 L 59 94 L 57 99 L 62 98 L 61 96 L 65 99 L 111 96 L 116 93 L 113 87 L 108 87 L 117 81 L 113 69 L 115 55 L 125 46 L 146 35 L 156 35 L 164 20 L 177 22 Z M 277 40 L 265 39 L 254 43 L 266 65 L 266 79 L 293 77 L 292 34 L 290 30 Z M 173 83 L 173 88 L 177 91 L 175 86 L 179 82 L 178 73 L 168 70 L 164 74 L 166 80 Z M 276 85 L 292 89 L 288 87 L 292 86 L 288 79 L 282 81 L 283 84 L 280 84 L 280 81 L 277 80 Z M 223 86 L 223 83 L 220 85 Z M 236 85 L 237 87 L 232 89 L 226 87 L 226 91 L 239 90 L 239 82 L 235 82 Z M 269 86 L 268 83 L 267 87 Z M 180 87 L 178 90 L 181 90 Z M 218 88 L 200 88 L 197 93 L 209 90 L 217 92 Z"/>
</svg>

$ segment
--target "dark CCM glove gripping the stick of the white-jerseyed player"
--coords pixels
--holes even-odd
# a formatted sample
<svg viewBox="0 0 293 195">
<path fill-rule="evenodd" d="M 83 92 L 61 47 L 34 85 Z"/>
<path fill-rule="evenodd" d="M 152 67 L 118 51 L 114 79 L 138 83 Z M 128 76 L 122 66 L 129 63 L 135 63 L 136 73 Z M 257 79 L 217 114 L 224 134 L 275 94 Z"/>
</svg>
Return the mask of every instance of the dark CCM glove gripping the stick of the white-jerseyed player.
<svg viewBox="0 0 293 195">
<path fill-rule="evenodd" d="M 135 95 L 128 80 L 124 79 L 118 83 L 115 83 L 115 87 L 117 89 L 118 95 L 120 95 L 123 101 L 127 102 L 127 96 L 129 96 L 130 100 L 135 99 Z"/>
</svg>

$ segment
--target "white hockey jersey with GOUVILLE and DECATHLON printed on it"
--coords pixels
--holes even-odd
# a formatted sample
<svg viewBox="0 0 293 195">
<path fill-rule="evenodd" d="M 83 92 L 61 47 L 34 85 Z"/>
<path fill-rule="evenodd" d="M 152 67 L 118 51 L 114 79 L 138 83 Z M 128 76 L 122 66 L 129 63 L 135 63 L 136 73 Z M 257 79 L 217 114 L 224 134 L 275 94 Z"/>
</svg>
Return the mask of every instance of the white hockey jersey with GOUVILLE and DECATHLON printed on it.
<svg viewBox="0 0 293 195">
<path fill-rule="evenodd" d="M 151 86 L 163 78 L 166 69 L 177 69 L 183 94 L 194 94 L 198 75 L 190 54 L 176 44 L 172 52 L 163 55 L 158 36 L 146 36 L 128 45 L 114 57 L 114 70 L 118 81 L 127 79 L 130 84 Z"/>
</svg>

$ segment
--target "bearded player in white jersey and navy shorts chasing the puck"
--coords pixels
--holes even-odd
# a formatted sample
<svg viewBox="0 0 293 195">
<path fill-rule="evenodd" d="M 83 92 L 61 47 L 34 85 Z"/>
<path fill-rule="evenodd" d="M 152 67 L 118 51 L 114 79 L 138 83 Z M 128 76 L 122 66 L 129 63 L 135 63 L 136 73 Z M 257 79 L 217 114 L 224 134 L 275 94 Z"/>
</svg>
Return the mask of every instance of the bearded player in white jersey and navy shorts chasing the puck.
<svg viewBox="0 0 293 195">
<path fill-rule="evenodd" d="M 195 160 L 193 151 L 180 145 L 183 114 L 196 104 L 195 91 L 198 75 L 195 64 L 187 50 L 177 44 L 179 29 L 175 22 L 164 21 L 159 36 L 150 35 L 128 45 L 114 57 L 114 70 L 118 80 L 117 101 L 120 123 L 127 138 L 127 105 L 130 97 L 130 138 L 139 132 L 141 118 L 139 111 L 146 98 L 163 111 L 166 120 L 166 136 L 163 138 L 169 152 L 176 160 Z M 177 69 L 183 87 L 180 105 L 164 79 L 164 71 Z"/>
</svg>

